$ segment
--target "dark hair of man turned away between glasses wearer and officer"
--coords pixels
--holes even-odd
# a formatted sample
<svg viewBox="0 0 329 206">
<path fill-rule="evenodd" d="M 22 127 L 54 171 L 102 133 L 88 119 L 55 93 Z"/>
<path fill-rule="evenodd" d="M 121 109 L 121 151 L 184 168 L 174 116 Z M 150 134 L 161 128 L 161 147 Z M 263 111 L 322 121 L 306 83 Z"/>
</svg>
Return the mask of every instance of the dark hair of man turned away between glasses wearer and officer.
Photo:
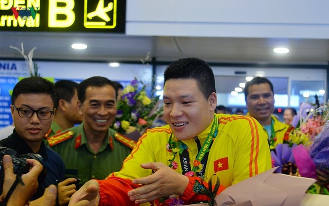
<svg viewBox="0 0 329 206">
<path fill-rule="evenodd" d="M 71 102 L 75 90 L 78 90 L 79 84 L 71 80 L 59 80 L 55 83 L 57 101 L 65 100 Z"/>
</svg>

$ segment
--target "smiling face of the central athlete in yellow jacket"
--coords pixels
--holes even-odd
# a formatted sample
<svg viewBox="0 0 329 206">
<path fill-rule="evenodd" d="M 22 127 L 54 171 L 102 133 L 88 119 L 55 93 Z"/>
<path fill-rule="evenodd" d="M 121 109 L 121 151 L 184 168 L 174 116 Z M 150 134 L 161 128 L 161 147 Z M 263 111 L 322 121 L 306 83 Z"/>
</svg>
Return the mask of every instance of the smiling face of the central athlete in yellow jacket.
<svg viewBox="0 0 329 206">
<path fill-rule="evenodd" d="M 217 99 L 204 98 L 194 79 L 169 79 L 164 85 L 164 118 L 175 137 L 191 139 L 213 121 Z"/>
</svg>

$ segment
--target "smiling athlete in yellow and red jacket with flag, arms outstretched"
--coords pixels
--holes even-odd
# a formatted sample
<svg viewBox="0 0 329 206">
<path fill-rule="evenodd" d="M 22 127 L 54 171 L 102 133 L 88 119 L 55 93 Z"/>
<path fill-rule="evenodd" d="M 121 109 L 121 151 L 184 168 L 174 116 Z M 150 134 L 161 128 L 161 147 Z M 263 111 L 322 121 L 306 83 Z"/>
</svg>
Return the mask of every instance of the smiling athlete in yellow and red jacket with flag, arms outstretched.
<svg viewBox="0 0 329 206">
<path fill-rule="evenodd" d="M 207 200 L 193 191 L 202 175 L 206 186 L 215 173 L 228 187 L 269 169 L 261 125 L 248 116 L 215 114 L 215 90 L 213 71 L 203 60 L 185 58 L 169 65 L 163 98 L 168 125 L 147 130 L 119 172 L 90 180 L 70 203 L 135 205 L 176 194 L 189 204 Z"/>
</svg>

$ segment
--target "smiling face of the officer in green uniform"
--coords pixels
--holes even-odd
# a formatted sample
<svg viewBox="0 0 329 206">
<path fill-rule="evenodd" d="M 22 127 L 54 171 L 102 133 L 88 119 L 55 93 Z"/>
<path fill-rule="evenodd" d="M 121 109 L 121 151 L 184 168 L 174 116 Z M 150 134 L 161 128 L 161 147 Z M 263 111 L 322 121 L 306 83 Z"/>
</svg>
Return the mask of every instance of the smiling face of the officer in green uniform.
<svg viewBox="0 0 329 206">
<path fill-rule="evenodd" d="M 115 90 L 111 85 L 89 86 L 86 99 L 78 103 L 79 112 L 84 115 L 85 132 L 106 133 L 116 115 Z"/>
</svg>

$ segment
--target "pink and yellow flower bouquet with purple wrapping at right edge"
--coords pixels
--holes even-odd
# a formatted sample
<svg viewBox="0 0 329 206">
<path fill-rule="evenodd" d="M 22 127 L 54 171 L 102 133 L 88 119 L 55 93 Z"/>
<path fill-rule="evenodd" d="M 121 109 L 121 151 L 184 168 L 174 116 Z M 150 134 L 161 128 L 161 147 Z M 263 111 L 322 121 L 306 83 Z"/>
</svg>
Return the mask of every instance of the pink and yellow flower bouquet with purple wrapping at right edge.
<svg viewBox="0 0 329 206">
<path fill-rule="evenodd" d="M 305 108 L 301 107 L 299 110 L 302 111 Z M 283 150 L 285 152 L 281 154 L 279 151 L 279 155 L 276 154 L 275 156 L 272 154 L 272 161 L 275 162 L 274 165 L 290 162 L 292 167 L 297 168 L 292 172 L 292 175 L 317 178 L 316 169 L 322 171 L 323 169 L 329 169 L 329 124 L 327 124 L 329 103 L 317 108 L 313 107 L 308 114 L 300 115 L 297 118 L 299 118 L 298 121 L 293 121 L 296 128 L 289 134 L 289 141 L 284 142 L 288 143 L 291 148 L 287 148 L 288 145 L 282 146 L 282 148 L 285 148 Z M 286 158 L 281 159 L 284 156 Z M 282 173 L 284 172 L 282 171 Z M 308 192 L 329 194 L 328 190 L 328 185 L 315 183 L 309 188 Z"/>
</svg>

